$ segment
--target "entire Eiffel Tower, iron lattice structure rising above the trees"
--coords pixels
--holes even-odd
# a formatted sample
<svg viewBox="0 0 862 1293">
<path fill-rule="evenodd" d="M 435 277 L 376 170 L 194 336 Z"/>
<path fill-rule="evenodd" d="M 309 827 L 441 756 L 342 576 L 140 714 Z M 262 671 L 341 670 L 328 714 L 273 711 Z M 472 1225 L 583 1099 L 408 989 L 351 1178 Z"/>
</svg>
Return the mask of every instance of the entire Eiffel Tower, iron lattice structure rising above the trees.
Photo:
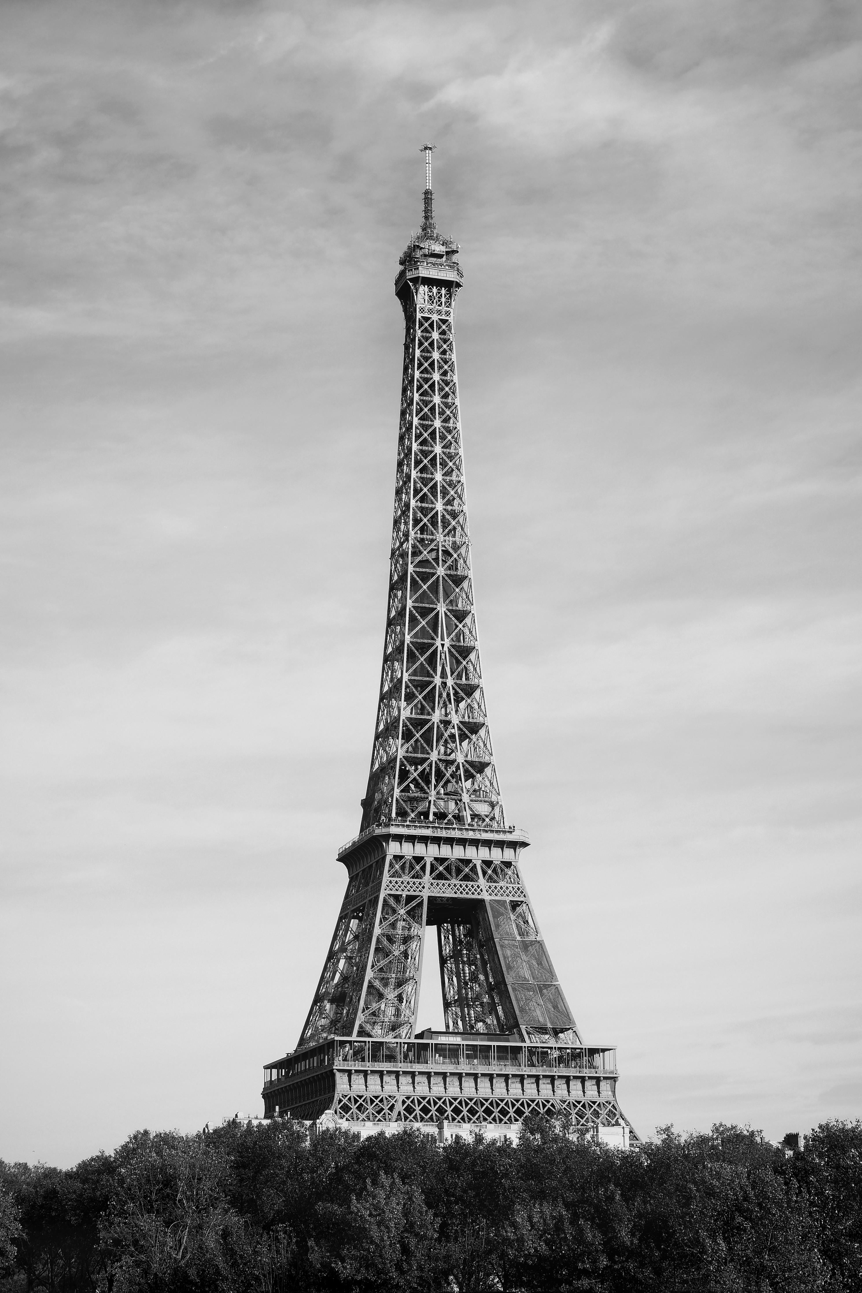
<svg viewBox="0 0 862 1293">
<path fill-rule="evenodd" d="M 637 1139 L 616 1053 L 587 1046 L 523 884 L 482 687 L 467 524 L 454 306 L 459 246 L 438 233 L 425 154 L 421 229 L 399 257 L 405 361 L 386 632 L 359 834 L 297 1047 L 264 1069 L 266 1117 L 361 1131 L 512 1134 L 567 1112 Z M 416 1033 L 437 930 L 443 1032 Z"/>
</svg>

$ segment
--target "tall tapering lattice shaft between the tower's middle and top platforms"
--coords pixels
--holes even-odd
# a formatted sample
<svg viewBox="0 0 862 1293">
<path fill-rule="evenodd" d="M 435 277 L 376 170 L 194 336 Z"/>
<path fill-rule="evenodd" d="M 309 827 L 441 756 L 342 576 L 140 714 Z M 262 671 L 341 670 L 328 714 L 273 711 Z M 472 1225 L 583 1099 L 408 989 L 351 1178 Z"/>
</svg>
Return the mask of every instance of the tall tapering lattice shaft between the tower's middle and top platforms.
<svg viewBox="0 0 862 1293">
<path fill-rule="evenodd" d="M 473 610 L 452 306 L 408 281 L 389 603 L 362 829 L 504 825 Z"/>
</svg>

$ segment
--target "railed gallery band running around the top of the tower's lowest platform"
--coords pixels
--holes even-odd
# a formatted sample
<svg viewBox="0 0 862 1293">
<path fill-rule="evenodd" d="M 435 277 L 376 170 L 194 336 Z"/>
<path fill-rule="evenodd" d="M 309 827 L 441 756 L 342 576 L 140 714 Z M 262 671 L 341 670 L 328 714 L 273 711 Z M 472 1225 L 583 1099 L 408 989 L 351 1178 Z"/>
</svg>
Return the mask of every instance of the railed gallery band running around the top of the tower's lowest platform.
<svg viewBox="0 0 862 1293">
<path fill-rule="evenodd" d="M 455 1041 L 414 1038 L 333 1037 L 319 1046 L 286 1056 L 279 1065 L 266 1065 L 264 1089 L 286 1078 L 309 1076 L 326 1068 L 442 1068 L 487 1069 L 492 1073 L 565 1072 L 582 1076 L 615 1076 L 615 1046 L 535 1046 L 523 1042 Z"/>
</svg>

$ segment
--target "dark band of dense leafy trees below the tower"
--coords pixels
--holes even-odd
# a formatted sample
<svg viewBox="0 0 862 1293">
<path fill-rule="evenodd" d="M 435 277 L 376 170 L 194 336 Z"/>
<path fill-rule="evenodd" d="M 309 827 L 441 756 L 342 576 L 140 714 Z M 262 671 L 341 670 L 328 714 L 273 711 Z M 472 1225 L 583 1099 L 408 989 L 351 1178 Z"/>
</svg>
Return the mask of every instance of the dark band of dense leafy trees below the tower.
<svg viewBox="0 0 862 1293">
<path fill-rule="evenodd" d="M 138 1131 L 68 1171 L 0 1162 L 0 1290 L 862 1290 L 862 1122 L 791 1157 L 672 1129 L 624 1153 L 296 1124 Z"/>
</svg>

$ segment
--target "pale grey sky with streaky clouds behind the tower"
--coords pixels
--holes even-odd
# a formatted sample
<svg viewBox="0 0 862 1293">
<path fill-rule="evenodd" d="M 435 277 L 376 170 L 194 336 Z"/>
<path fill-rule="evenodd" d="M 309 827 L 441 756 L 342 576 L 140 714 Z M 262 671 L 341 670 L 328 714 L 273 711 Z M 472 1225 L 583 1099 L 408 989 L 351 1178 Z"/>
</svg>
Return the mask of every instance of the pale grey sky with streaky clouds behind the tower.
<svg viewBox="0 0 862 1293">
<path fill-rule="evenodd" d="M 258 1112 L 296 1042 L 425 138 L 491 731 L 582 1031 L 641 1134 L 862 1115 L 858 5 L 0 23 L 0 1156 Z"/>
</svg>

